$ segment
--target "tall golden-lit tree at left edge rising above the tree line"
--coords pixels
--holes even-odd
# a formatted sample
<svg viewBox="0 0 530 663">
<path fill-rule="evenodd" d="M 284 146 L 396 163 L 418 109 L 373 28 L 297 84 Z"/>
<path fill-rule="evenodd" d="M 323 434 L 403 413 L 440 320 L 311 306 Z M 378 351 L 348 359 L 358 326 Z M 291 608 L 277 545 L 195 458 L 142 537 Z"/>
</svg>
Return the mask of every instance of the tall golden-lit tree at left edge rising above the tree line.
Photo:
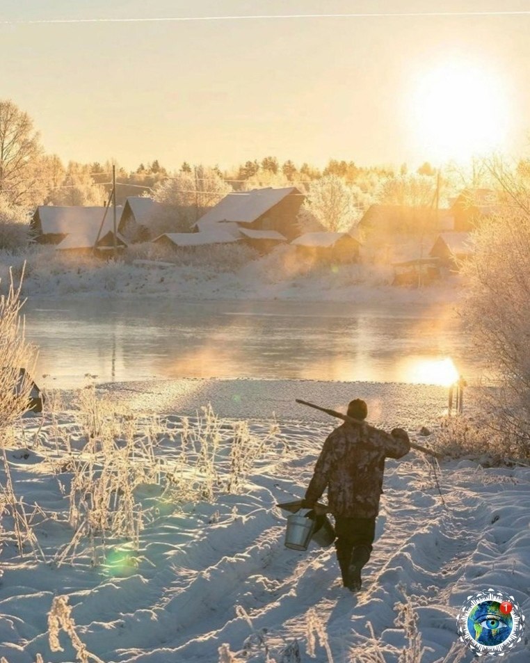
<svg viewBox="0 0 530 663">
<path fill-rule="evenodd" d="M 15 205 L 44 200 L 47 161 L 33 120 L 10 99 L 0 100 L 0 193 Z"/>
</svg>

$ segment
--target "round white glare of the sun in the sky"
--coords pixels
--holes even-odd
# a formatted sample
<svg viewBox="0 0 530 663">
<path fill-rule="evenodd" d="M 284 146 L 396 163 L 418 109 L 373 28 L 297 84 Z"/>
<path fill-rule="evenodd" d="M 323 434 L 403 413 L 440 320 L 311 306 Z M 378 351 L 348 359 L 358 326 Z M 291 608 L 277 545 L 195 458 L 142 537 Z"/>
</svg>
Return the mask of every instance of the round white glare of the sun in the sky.
<svg viewBox="0 0 530 663">
<path fill-rule="evenodd" d="M 465 161 L 506 145 L 508 103 L 486 67 L 449 61 L 425 72 L 410 99 L 412 131 L 426 159 Z"/>
</svg>

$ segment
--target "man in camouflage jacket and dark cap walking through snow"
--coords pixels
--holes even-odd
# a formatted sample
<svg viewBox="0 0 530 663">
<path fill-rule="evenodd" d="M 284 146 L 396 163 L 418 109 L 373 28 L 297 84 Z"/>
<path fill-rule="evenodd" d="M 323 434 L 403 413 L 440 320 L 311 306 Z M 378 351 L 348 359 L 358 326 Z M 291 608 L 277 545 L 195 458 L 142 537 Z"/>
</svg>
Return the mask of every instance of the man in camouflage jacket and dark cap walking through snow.
<svg viewBox="0 0 530 663">
<path fill-rule="evenodd" d="M 389 435 L 364 422 L 367 414 L 367 404 L 361 399 L 348 405 L 348 417 L 359 423 L 344 422 L 328 436 L 303 500 L 304 507 L 315 508 L 328 486 L 337 561 L 342 582 L 351 591 L 361 588 L 361 569 L 374 543 L 385 458 L 401 458 L 410 451 L 403 429 L 394 429 Z M 316 510 L 318 513 L 318 506 Z"/>
</svg>

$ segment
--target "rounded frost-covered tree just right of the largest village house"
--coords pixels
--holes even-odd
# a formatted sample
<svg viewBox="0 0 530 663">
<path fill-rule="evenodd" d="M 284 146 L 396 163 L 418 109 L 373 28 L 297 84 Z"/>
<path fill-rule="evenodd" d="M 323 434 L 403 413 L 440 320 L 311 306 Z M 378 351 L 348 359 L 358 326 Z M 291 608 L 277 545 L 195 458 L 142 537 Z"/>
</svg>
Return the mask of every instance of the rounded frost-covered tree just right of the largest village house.
<svg viewBox="0 0 530 663">
<path fill-rule="evenodd" d="M 358 186 L 348 186 L 337 175 L 312 182 L 298 220 L 303 230 L 323 227 L 332 232 L 348 232 L 362 214 L 364 194 Z"/>
</svg>

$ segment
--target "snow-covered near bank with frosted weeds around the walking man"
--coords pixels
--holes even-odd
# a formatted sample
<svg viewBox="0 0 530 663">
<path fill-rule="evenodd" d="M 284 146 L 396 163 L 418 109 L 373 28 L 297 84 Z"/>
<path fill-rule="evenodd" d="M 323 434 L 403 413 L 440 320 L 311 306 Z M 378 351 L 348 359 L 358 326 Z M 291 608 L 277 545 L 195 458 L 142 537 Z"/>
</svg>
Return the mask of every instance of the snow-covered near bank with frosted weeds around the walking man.
<svg viewBox="0 0 530 663">
<path fill-rule="evenodd" d="M 38 653 L 46 662 L 76 660 L 64 632 L 64 651 L 50 650 L 47 613 L 57 596 L 67 596 L 78 636 L 92 660 L 104 663 L 468 662 L 472 656 L 460 657 L 455 647 L 455 617 L 470 593 L 508 591 L 530 614 L 526 467 L 443 462 L 443 503 L 424 456 L 387 461 L 376 544 L 358 596 L 340 586 L 332 548 L 284 548 L 286 521 L 275 503 L 303 495 L 335 424 L 294 398 L 339 408 L 364 397 L 372 423 L 404 426 L 428 445 L 447 406 L 444 389 L 182 380 L 102 385 L 98 392 L 106 404 L 100 412 L 122 413 L 118 430 L 102 423 L 88 389 L 56 394 L 53 413 L 24 421 L 23 445 L 7 440 L 15 494 L 29 518 L 27 529 L 19 523 L 19 536 L 27 535 L 22 558 L 13 508 L 4 505 L 0 520 L 0 653 L 9 663 L 31 663 Z M 473 401 L 469 390 L 469 411 Z M 222 420 L 197 417 L 208 402 Z M 433 436 L 419 436 L 421 426 Z M 215 463 L 199 444 L 207 438 L 217 439 Z M 236 440 L 252 454 L 231 456 Z M 109 465 L 116 449 L 131 452 L 129 461 L 120 459 L 124 465 Z M 136 476 L 136 525 L 129 536 L 115 536 L 109 526 L 104 539 L 76 539 L 109 467 Z M 79 488 L 87 468 L 92 493 Z M 121 490 L 113 497 L 120 504 L 130 497 Z M 408 602 L 425 650 L 399 658 L 403 647 L 419 646 Z M 504 660 L 527 662 L 528 644 Z"/>
</svg>

